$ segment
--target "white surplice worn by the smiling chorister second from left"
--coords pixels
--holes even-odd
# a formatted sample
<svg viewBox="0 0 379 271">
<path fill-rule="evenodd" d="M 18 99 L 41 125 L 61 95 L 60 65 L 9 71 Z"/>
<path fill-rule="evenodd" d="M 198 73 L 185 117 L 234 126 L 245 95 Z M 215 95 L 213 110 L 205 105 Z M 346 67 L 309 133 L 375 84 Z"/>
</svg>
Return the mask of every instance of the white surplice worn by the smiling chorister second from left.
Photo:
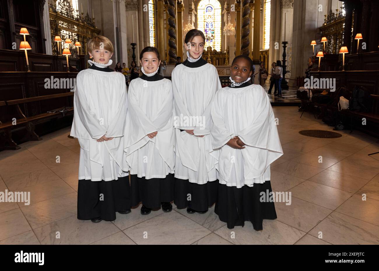
<svg viewBox="0 0 379 271">
<path fill-rule="evenodd" d="M 124 138 L 124 162 L 130 174 L 151 179 L 174 173 L 173 106 L 169 79 L 130 82 Z M 155 131 L 157 135 L 150 139 L 147 134 Z"/>
</svg>

